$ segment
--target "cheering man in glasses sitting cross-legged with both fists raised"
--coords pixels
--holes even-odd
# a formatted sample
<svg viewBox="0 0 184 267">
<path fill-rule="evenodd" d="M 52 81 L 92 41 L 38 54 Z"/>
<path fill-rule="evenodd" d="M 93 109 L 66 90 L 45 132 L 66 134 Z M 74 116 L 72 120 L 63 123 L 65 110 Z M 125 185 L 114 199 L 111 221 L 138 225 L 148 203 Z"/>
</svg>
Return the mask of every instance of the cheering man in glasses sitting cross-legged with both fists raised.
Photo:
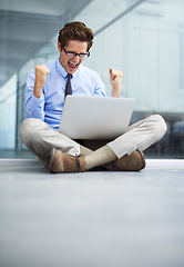
<svg viewBox="0 0 184 267">
<path fill-rule="evenodd" d="M 115 140 L 101 144 L 98 149 L 93 147 L 94 151 L 86 147 L 85 140 L 79 144 L 58 131 L 68 90 L 73 96 L 105 97 L 99 75 L 81 65 L 90 56 L 92 40 L 92 30 L 82 22 L 68 23 L 60 30 L 59 59 L 37 66 L 28 77 L 27 119 L 20 127 L 21 140 L 51 172 L 86 171 L 94 167 L 141 170 L 145 167 L 142 151 L 166 131 L 165 121 L 159 115 L 130 126 Z M 112 97 L 120 96 L 122 75 L 122 71 L 110 69 Z"/>
</svg>

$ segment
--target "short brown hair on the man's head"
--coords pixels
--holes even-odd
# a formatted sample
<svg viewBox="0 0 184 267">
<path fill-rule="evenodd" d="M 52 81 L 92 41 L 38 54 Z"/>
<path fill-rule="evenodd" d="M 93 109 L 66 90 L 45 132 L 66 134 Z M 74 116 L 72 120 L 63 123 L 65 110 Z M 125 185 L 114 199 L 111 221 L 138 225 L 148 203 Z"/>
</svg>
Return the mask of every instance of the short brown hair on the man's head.
<svg viewBox="0 0 184 267">
<path fill-rule="evenodd" d="M 93 32 L 83 22 L 70 22 L 60 30 L 58 41 L 67 47 L 70 40 L 86 41 L 89 51 L 93 43 Z"/>
</svg>

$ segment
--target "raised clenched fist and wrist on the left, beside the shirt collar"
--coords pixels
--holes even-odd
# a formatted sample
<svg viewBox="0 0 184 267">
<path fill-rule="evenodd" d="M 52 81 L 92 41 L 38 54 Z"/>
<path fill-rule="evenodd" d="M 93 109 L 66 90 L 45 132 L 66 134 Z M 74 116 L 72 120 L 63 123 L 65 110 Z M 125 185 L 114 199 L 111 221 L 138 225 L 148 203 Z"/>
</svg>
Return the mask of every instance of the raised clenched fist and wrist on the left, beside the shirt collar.
<svg viewBox="0 0 184 267">
<path fill-rule="evenodd" d="M 45 83 L 47 76 L 49 75 L 50 70 L 45 65 L 35 66 L 34 69 L 35 69 L 35 81 L 34 81 L 33 93 L 37 98 L 41 98 L 42 88 Z"/>
</svg>

